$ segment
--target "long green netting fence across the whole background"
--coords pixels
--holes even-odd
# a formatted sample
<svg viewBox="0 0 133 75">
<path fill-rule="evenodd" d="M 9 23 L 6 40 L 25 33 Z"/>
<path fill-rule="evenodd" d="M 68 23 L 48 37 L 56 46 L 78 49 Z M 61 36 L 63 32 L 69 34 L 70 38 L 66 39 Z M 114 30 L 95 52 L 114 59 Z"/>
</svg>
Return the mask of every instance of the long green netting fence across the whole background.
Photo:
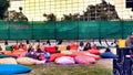
<svg viewBox="0 0 133 75">
<path fill-rule="evenodd" d="M 125 39 L 133 21 L 0 21 L 0 40 Z"/>
</svg>

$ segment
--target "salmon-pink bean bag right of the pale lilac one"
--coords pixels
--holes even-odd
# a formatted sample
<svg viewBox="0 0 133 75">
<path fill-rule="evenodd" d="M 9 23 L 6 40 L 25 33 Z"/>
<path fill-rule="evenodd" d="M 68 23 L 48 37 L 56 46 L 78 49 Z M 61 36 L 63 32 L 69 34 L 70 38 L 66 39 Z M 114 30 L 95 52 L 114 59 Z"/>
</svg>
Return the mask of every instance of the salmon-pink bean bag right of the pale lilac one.
<svg viewBox="0 0 133 75">
<path fill-rule="evenodd" d="M 75 63 L 78 64 L 94 64 L 95 60 L 93 57 L 86 55 L 78 55 L 75 56 Z"/>
</svg>

